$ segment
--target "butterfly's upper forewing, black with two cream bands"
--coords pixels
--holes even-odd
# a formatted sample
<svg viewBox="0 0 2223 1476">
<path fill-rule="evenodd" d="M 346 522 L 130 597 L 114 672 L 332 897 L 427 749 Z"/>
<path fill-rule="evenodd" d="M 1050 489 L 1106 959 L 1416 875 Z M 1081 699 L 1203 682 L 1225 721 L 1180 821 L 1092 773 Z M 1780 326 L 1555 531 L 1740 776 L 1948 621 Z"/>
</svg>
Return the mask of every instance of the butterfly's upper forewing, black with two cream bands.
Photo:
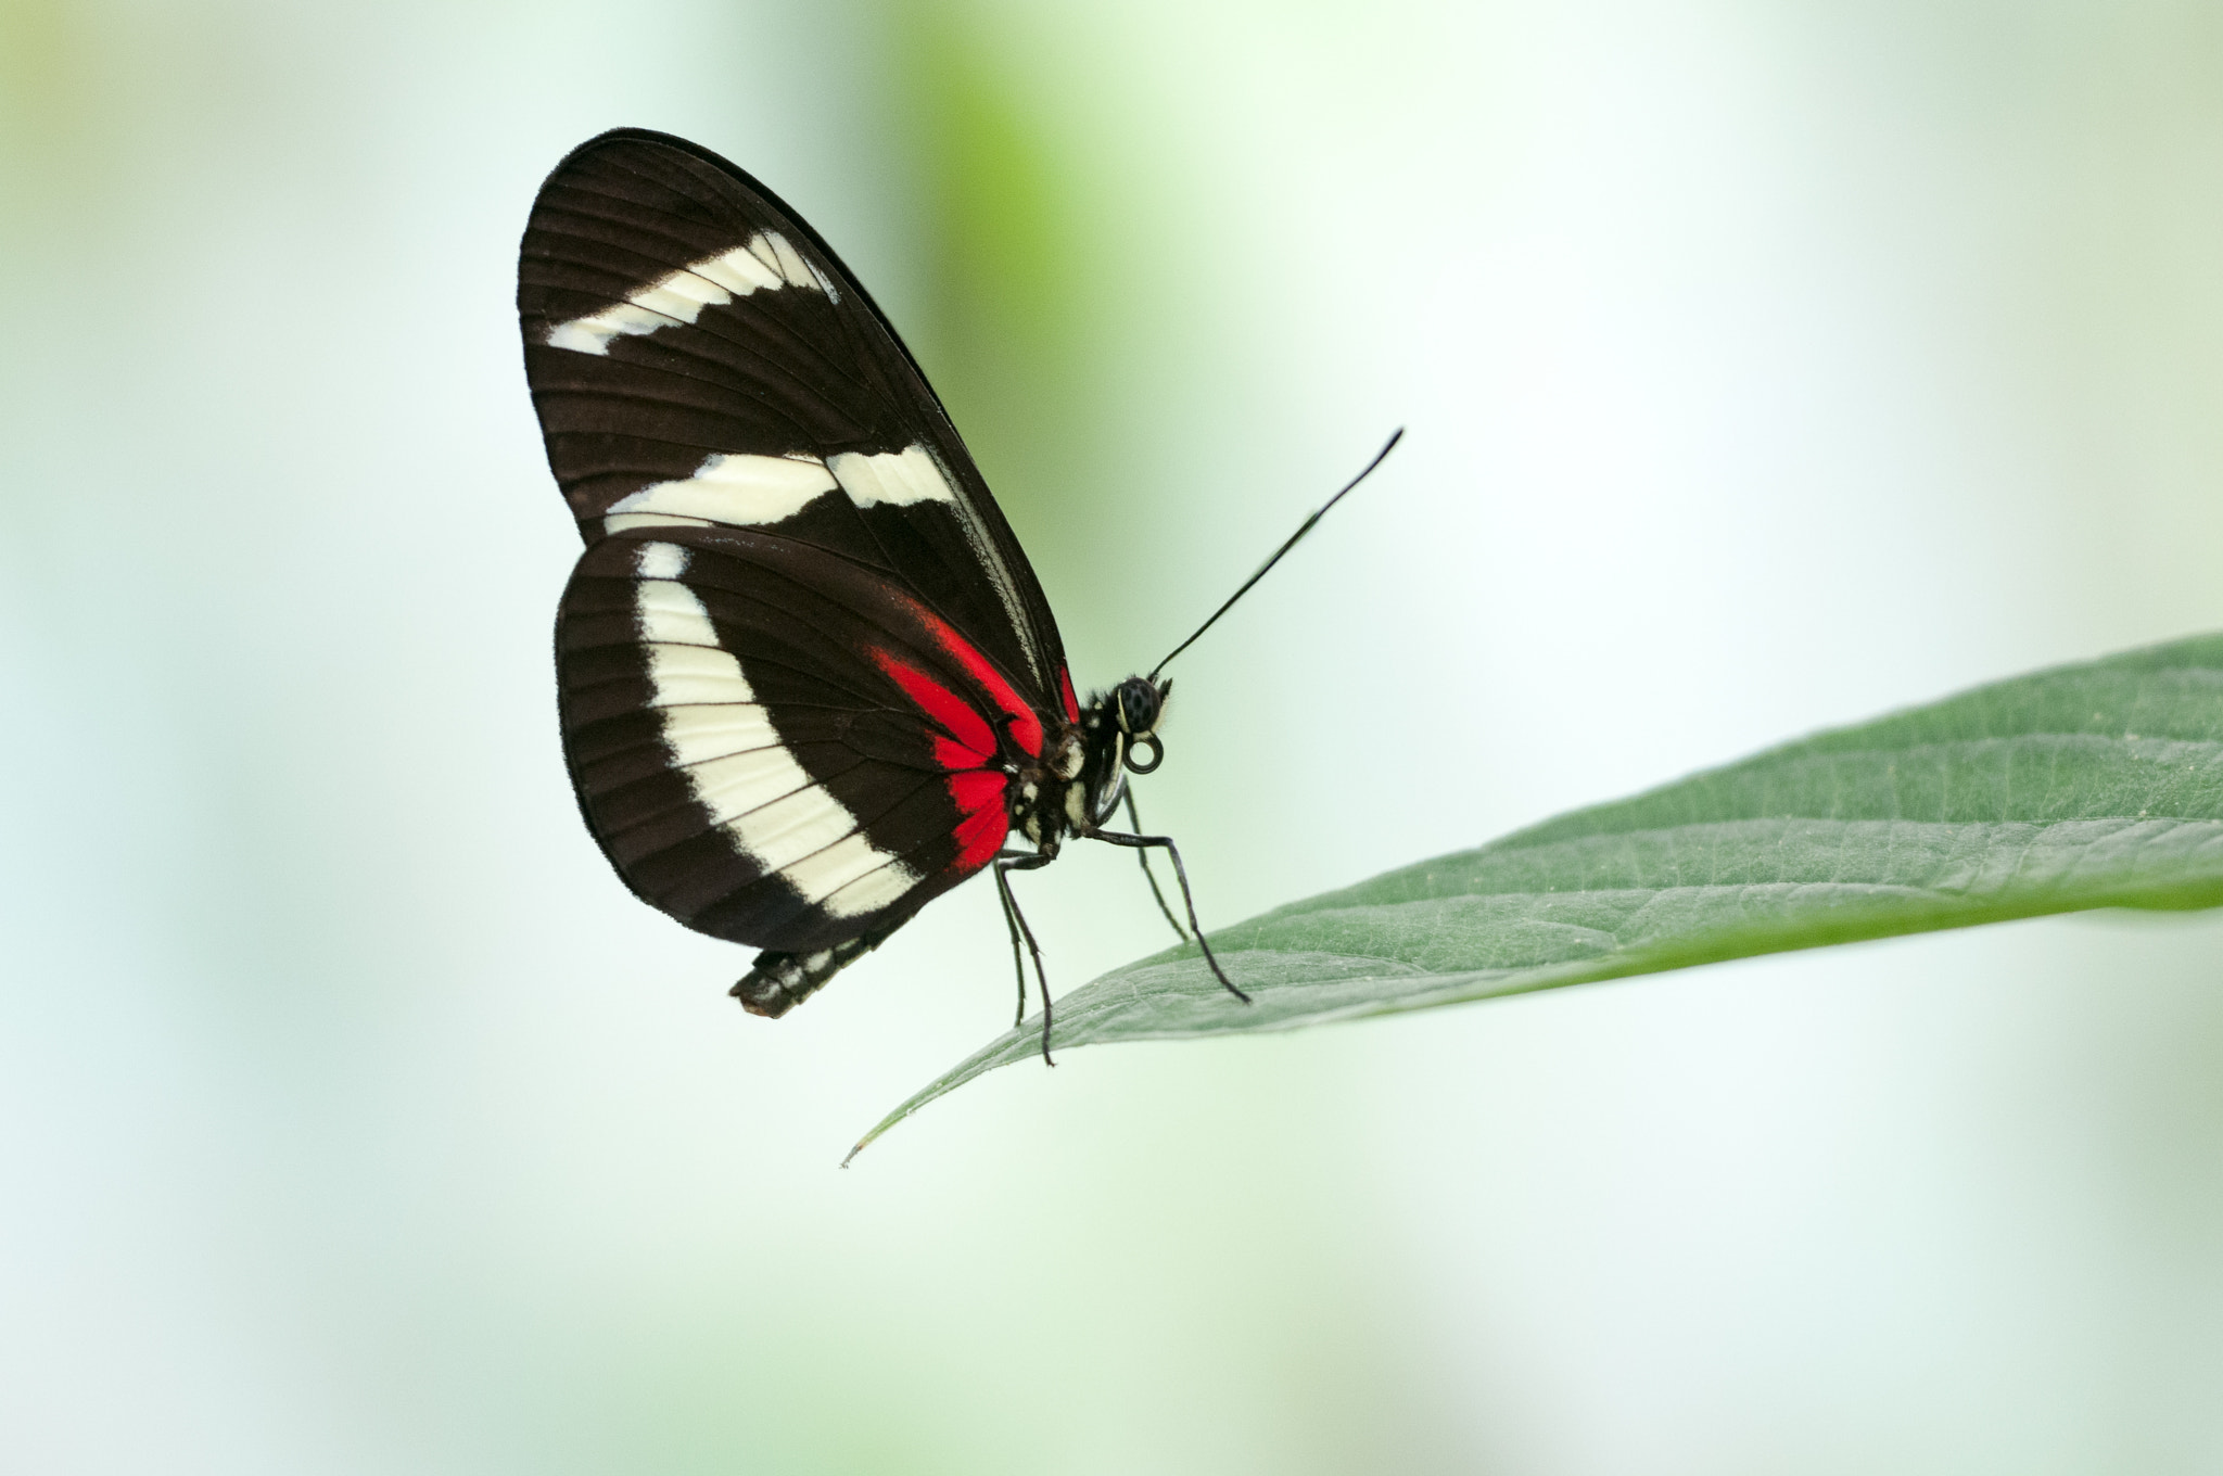
<svg viewBox="0 0 2223 1476">
<path fill-rule="evenodd" d="M 525 369 L 589 545 L 738 527 L 916 596 L 1049 711 L 1040 585 L 925 376 L 834 251 L 754 178 L 620 129 L 540 187 Z"/>
</svg>

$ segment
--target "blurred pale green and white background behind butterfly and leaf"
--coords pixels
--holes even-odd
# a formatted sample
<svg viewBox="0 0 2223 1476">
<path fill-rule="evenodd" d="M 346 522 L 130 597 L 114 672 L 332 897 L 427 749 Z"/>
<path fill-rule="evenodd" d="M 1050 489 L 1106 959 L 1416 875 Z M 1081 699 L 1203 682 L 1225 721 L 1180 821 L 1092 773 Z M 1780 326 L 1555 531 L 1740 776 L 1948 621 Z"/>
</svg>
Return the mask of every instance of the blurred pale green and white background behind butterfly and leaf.
<svg viewBox="0 0 2223 1476">
<path fill-rule="evenodd" d="M 2216 1472 L 2223 927 L 1076 1051 L 789 1020 L 578 825 L 540 176 L 696 138 L 1183 658 L 1236 920 L 2223 627 L 2223 11 L 0 0 L 0 1469 Z M 1160 947 L 1023 878 L 1051 978 Z"/>
</svg>

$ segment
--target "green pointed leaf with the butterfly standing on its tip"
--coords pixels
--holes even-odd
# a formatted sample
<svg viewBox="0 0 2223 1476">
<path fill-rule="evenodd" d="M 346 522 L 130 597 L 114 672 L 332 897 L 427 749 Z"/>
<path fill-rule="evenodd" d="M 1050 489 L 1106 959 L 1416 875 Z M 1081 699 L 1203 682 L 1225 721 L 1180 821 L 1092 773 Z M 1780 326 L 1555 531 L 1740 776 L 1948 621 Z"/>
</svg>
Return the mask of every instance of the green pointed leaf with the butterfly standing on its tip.
<svg viewBox="0 0 2223 1476">
<path fill-rule="evenodd" d="M 1978 687 L 1212 934 L 1056 1005 L 1054 1045 L 1556 989 L 2083 907 L 2223 905 L 2223 636 Z M 1036 1054 L 994 1040 L 865 1143 Z M 854 1149 L 851 1149 L 854 1156 Z"/>
</svg>

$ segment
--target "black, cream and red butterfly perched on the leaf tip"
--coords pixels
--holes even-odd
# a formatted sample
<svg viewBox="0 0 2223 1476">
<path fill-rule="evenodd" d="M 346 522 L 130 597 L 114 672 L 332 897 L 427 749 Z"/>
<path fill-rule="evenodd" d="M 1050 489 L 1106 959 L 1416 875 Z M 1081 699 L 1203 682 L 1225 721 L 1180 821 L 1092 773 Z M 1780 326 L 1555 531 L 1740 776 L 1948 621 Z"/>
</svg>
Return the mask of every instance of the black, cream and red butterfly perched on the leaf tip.
<svg viewBox="0 0 2223 1476">
<path fill-rule="evenodd" d="M 787 1014 L 989 871 L 1047 1058 L 1049 985 L 1009 874 L 1069 838 L 1136 849 L 1174 931 L 1249 998 L 1127 789 L 1165 756 L 1165 662 L 1078 700 L 949 413 L 796 211 L 709 149 L 602 133 L 534 200 L 518 322 L 587 542 L 556 614 L 578 807 L 638 898 L 762 949 L 731 989 L 745 1009 Z M 1123 802 L 1132 829 L 1109 829 Z"/>
</svg>

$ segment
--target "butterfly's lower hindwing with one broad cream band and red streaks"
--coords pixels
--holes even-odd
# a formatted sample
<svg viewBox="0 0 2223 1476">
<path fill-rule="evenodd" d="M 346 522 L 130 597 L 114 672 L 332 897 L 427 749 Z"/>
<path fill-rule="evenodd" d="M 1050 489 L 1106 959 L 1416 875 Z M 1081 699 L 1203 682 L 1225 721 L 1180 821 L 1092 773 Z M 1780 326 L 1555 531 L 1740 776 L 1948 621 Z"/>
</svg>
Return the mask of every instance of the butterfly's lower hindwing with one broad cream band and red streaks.
<svg viewBox="0 0 2223 1476">
<path fill-rule="evenodd" d="M 580 556 L 556 625 L 565 756 L 625 882 L 680 922 L 807 951 L 878 936 L 1007 831 L 1027 700 L 871 571 L 725 527 Z"/>
</svg>

